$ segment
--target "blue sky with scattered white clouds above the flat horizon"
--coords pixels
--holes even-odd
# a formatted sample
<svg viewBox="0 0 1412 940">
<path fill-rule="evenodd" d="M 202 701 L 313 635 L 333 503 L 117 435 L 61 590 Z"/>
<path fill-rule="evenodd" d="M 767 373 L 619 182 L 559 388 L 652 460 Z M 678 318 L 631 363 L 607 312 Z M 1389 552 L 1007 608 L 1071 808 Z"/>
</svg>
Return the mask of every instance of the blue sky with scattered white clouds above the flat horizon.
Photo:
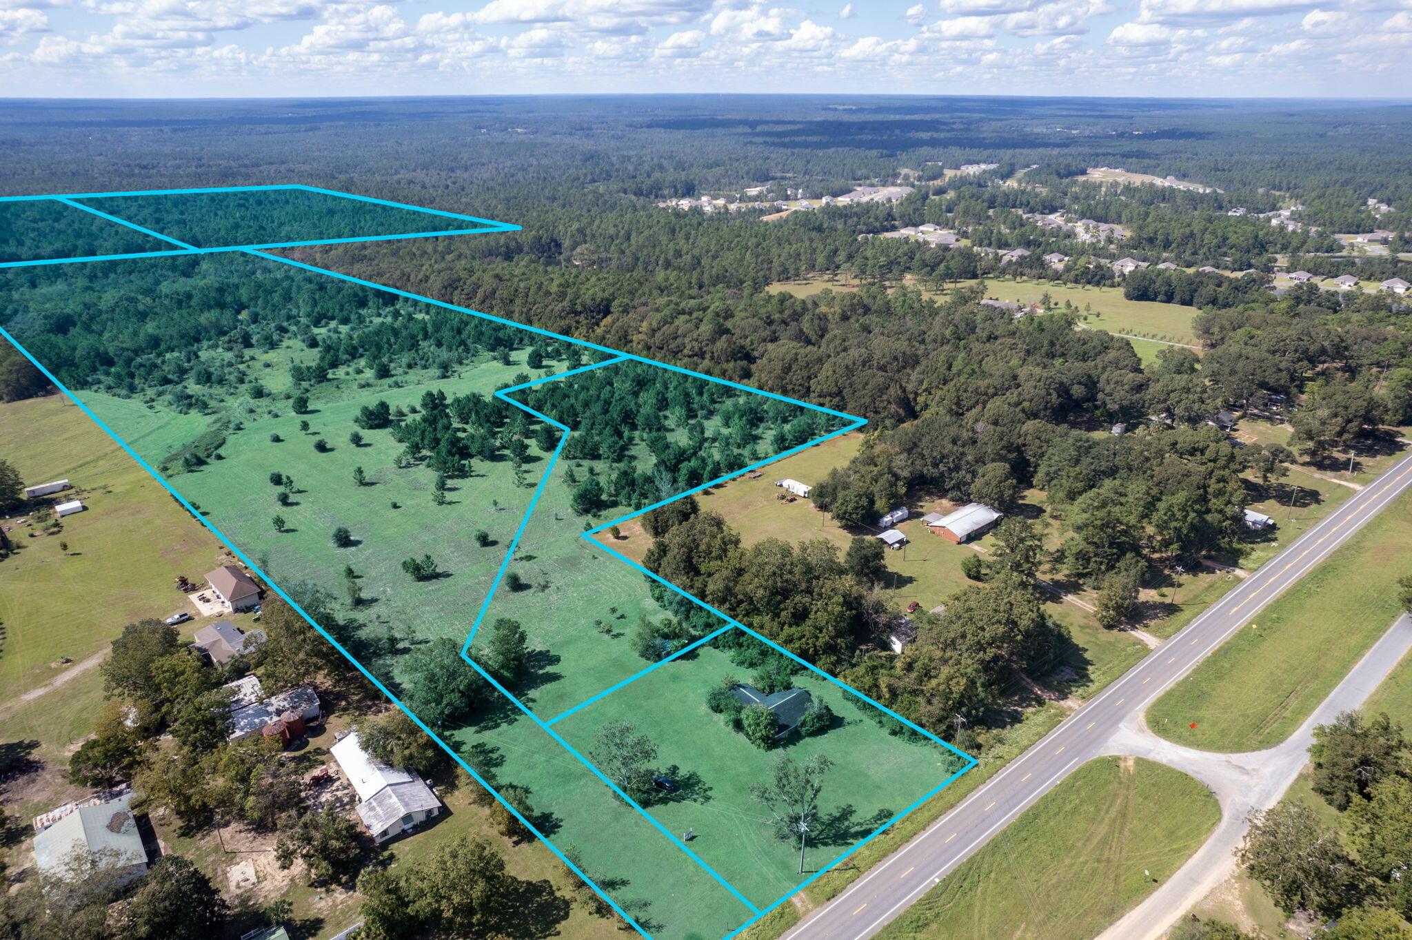
<svg viewBox="0 0 1412 940">
<path fill-rule="evenodd" d="M 1412 0 L 0 0 L 0 96 L 1412 96 Z"/>
</svg>

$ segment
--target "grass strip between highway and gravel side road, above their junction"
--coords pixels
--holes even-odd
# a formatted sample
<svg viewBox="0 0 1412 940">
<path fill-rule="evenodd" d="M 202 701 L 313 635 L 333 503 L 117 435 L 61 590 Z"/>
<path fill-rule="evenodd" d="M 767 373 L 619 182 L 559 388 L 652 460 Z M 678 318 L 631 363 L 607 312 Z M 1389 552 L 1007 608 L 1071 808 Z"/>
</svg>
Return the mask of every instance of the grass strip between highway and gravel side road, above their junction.
<svg viewBox="0 0 1412 940">
<path fill-rule="evenodd" d="M 1412 494 L 1398 497 L 1152 703 L 1148 725 L 1207 751 L 1257 751 L 1289 737 L 1401 613 L 1409 511 Z"/>
</svg>

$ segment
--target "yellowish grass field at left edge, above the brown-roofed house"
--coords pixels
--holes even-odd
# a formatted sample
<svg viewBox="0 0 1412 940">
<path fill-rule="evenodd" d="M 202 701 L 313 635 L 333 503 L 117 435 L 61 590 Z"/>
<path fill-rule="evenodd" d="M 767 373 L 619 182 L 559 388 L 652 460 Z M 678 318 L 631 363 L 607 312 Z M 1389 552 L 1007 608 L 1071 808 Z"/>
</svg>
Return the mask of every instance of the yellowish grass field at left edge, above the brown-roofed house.
<svg viewBox="0 0 1412 940">
<path fill-rule="evenodd" d="M 220 565 L 222 545 L 64 395 L 0 405 L 0 440 L 27 486 L 68 478 L 64 500 L 88 507 L 52 536 L 6 522 L 18 550 L 0 560 L 3 706 L 68 669 L 64 656 L 103 651 L 126 624 L 195 613 L 172 580 Z"/>
</svg>

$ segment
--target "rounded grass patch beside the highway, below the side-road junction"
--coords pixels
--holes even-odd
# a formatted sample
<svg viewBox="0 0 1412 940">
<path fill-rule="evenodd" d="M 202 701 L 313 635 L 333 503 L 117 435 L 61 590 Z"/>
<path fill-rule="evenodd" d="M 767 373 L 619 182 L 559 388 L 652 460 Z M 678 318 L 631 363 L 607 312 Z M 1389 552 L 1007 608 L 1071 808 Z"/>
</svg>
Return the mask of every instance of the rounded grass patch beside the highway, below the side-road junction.
<svg viewBox="0 0 1412 940">
<path fill-rule="evenodd" d="M 1169 878 L 1219 819 L 1216 797 L 1179 771 L 1090 761 L 878 936 L 1089 940 Z"/>
</svg>

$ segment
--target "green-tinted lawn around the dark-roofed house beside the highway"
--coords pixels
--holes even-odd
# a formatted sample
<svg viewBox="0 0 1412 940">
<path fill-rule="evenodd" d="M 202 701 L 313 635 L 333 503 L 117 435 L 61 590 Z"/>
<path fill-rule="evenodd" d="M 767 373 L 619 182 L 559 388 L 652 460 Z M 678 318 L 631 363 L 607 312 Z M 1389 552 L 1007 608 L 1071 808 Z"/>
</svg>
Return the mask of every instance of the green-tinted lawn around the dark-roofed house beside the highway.
<svg viewBox="0 0 1412 940">
<path fill-rule="evenodd" d="M 727 675 L 750 679 L 750 670 L 733 665 L 726 653 L 703 646 L 695 656 L 659 666 L 554 728 L 587 754 L 599 728 L 614 720 L 628 721 L 657 744 L 658 765 L 679 766 L 679 781 L 699 778 L 678 799 L 654 805 L 650 812 L 672 833 L 695 830 L 692 851 L 757 906 L 791 893 L 963 765 L 940 745 L 890 735 L 854 704 L 861 699 L 813 672 L 796 675 L 795 686 L 827 701 L 839 721 L 823 734 L 792 735 L 785 747 L 761 751 L 706 707 L 706 694 Z M 768 810 L 751 799 L 750 788 L 770 779 L 775 757 L 803 761 L 815 754 L 834 764 L 820 795 L 830 821 L 816 827 L 820 844 L 808 850 L 805 875 L 799 875 L 798 843 L 775 837 Z"/>
</svg>

